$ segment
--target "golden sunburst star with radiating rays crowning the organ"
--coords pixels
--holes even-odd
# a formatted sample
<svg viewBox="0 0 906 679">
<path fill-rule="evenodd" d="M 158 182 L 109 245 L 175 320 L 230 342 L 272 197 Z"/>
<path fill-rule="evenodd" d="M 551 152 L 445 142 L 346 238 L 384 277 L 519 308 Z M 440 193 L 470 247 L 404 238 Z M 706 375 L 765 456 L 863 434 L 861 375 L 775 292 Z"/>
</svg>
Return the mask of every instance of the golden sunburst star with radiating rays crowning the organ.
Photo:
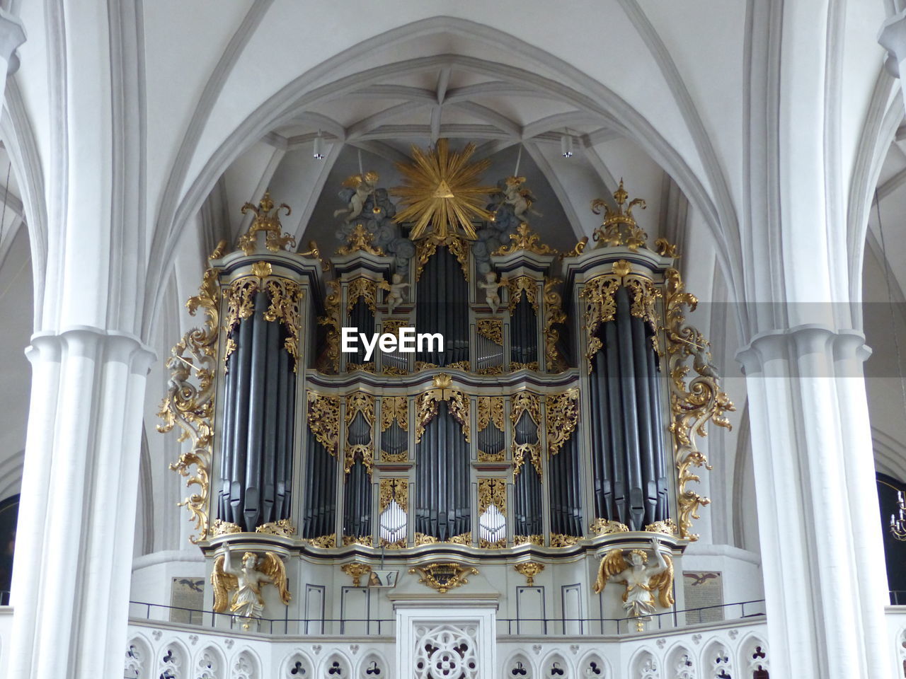
<svg viewBox="0 0 906 679">
<path fill-rule="evenodd" d="M 405 207 L 393 221 L 415 222 L 410 234 L 413 241 L 427 235 L 429 225 L 431 234 L 438 238 L 455 234 L 458 226 L 467 238 L 474 240 L 477 234 L 472 219 L 493 219 L 482 206 L 496 187 L 478 183 L 490 160 L 468 163 L 473 153 L 475 144 L 450 153 L 448 140 L 438 139 L 437 146 L 427 153 L 413 146 L 413 162 L 409 165 L 397 163 L 406 186 L 396 186 L 391 193 L 399 196 Z"/>
</svg>

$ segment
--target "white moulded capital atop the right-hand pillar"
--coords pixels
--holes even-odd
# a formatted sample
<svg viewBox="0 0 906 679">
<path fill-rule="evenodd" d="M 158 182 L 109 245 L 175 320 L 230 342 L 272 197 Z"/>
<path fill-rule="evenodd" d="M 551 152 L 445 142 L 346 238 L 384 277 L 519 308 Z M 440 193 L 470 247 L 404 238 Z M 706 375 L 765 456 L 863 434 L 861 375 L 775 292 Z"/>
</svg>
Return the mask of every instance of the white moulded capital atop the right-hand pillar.
<svg viewBox="0 0 906 679">
<path fill-rule="evenodd" d="M 865 344 L 865 335 L 852 328 L 831 328 L 809 323 L 793 328 L 766 330 L 749 339 L 748 344 L 737 351 L 737 361 L 747 374 L 761 372 L 765 364 L 776 359 L 795 360 L 807 355 L 823 354 L 830 359 L 828 370 L 820 368 L 814 374 L 797 371 L 796 377 L 841 377 L 832 368 L 840 361 L 856 360 L 860 365 L 872 355 L 872 349 Z M 811 364 L 814 368 L 815 364 Z"/>
</svg>

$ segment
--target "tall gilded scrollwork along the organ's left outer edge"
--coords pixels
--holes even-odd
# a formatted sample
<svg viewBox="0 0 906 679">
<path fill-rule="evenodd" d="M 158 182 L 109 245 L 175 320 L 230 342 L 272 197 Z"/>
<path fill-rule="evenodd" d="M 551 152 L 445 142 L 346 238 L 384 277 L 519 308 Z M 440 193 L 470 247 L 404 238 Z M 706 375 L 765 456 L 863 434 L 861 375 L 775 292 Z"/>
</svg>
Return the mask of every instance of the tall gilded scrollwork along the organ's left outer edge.
<svg viewBox="0 0 906 679">
<path fill-rule="evenodd" d="M 208 534 L 208 498 L 214 435 L 214 371 L 217 366 L 217 337 L 219 330 L 218 300 L 220 287 L 217 271 L 207 269 L 198 288 L 198 295 L 186 301 L 191 315 L 198 309 L 205 314 L 202 328 L 189 330 L 170 351 L 167 368 L 167 396 L 160 402 L 159 418 L 163 421 L 158 431 L 166 434 L 178 426 L 182 432 L 179 441 L 191 440 L 192 447 L 179 455 L 170 469 L 187 477 L 186 485 L 198 486 L 198 493 L 191 493 L 179 506 L 188 507 L 195 521 L 197 535 L 192 542 L 204 540 Z M 195 373 L 194 378 L 192 373 Z M 191 472 L 194 467 L 195 471 Z"/>
</svg>

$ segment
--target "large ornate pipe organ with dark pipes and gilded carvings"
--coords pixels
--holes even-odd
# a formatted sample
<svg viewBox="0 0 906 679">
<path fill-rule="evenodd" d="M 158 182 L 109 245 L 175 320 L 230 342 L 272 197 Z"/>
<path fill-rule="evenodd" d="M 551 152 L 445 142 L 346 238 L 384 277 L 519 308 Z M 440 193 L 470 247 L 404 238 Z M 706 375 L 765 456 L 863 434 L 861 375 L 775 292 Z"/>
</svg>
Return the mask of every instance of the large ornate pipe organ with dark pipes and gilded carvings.
<svg viewBox="0 0 906 679">
<path fill-rule="evenodd" d="M 444 140 L 419 153 L 434 174 L 401 168 L 398 203 L 376 174 L 351 178 L 333 257 L 296 248 L 269 195 L 211 255 L 188 303 L 206 324 L 174 348 L 161 408 L 188 441 L 172 466 L 194 489 L 192 540 L 212 560 L 287 559 L 294 608 L 267 595 L 268 617 L 312 617 L 310 588 L 326 588 L 323 616 L 348 615 L 330 594 L 343 565 L 435 561 L 477 569 L 506 617 L 526 563 L 549 606 L 580 582 L 587 617 L 617 617 L 592 595 L 598 560 L 651 535 L 681 558 L 708 503 L 697 436 L 733 409 L 687 324 L 675 248 L 649 248 L 621 183 L 593 204 L 593 245 L 557 253 L 528 224 L 522 177 L 478 186 L 468 149 L 458 168 Z M 343 328 L 443 341 L 345 351 Z"/>
</svg>

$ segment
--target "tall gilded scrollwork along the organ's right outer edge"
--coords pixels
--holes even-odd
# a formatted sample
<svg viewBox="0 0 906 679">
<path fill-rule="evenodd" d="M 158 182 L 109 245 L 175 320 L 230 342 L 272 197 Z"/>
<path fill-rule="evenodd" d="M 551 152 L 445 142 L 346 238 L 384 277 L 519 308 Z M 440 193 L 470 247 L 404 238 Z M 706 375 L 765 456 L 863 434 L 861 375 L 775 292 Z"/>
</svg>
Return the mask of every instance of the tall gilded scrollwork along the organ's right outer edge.
<svg viewBox="0 0 906 679">
<path fill-rule="evenodd" d="M 698 540 L 690 532 L 692 520 L 699 518 L 699 507 L 710 502 L 708 498 L 689 489 L 689 482 L 699 482 L 692 467 L 711 469 L 708 459 L 699 450 L 698 437 L 707 435 L 705 426 L 731 428 L 724 413 L 736 410 L 727 394 L 720 390 L 717 368 L 711 363 L 708 340 L 696 328 L 686 324 L 685 309 L 695 311 L 695 295 L 683 291 L 683 282 L 676 269 L 665 274 L 667 283 L 666 318 L 667 354 L 670 375 L 670 434 L 677 465 L 679 504 L 679 537 Z M 687 381 L 688 360 L 696 376 Z"/>
</svg>

